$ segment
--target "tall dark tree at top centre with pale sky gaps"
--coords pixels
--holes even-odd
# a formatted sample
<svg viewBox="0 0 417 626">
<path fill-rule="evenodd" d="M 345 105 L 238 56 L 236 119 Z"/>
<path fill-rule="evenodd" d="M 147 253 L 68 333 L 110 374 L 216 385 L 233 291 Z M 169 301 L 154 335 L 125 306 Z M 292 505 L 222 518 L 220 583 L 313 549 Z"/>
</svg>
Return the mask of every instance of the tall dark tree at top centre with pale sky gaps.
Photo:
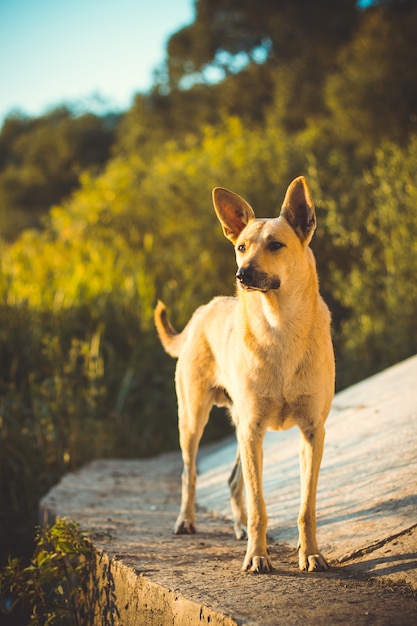
<svg viewBox="0 0 417 626">
<path fill-rule="evenodd" d="M 357 16 L 355 0 L 199 0 L 195 21 L 168 42 L 154 92 L 169 108 L 177 100 L 189 124 L 201 109 L 206 123 L 219 110 L 262 120 L 274 92 L 284 91 L 282 121 L 297 130 L 322 112 L 324 79 Z"/>
</svg>

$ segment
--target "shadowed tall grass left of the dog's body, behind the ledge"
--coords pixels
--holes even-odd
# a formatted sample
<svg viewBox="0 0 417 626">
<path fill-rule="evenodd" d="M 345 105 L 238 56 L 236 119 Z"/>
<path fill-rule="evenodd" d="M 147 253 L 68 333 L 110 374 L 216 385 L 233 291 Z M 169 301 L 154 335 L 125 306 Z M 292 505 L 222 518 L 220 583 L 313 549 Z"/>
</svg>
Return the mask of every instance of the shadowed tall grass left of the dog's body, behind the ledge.
<svg viewBox="0 0 417 626">
<path fill-rule="evenodd" d="M 101 307 L 101 308 L 100 308 Z M 177 442 L 174 363 L 108 301 L 0 309 L 0 553 L 22 554 L 37 505 L 68 470 Z"/>
</svg>

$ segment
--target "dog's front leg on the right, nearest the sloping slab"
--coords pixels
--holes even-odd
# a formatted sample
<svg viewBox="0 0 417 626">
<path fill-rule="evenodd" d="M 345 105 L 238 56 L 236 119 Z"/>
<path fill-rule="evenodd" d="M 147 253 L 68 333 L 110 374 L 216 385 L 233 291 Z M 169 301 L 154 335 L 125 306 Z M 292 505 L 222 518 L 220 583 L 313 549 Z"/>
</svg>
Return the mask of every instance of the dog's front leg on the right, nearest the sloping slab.
<svg viewBox="0 0 417 626">
<path fill-rule="evenodd" d="M 316 493 L 324 447 L 324 426 L 301 428 L 301 503 L 298 517 L 298 560 L 301 570 L 324 571 L 328 564 L 316 539 Z"/>
</svg>

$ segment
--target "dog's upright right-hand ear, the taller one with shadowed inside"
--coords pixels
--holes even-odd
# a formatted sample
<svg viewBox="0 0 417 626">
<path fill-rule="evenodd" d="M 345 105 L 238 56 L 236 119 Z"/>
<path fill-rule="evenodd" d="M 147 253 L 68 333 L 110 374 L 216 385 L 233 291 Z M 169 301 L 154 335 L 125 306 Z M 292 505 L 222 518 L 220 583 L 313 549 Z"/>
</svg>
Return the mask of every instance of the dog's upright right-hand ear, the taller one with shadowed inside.
<svg viewBox="0 0 417 626">
<path fill-rule="evenodd" d="M 301 241 L 310 242 L 316 228 L 316 212 L 304 176 L 293 180 L 288 187 L 281 215 L 289 222 Z"/>
</svg>

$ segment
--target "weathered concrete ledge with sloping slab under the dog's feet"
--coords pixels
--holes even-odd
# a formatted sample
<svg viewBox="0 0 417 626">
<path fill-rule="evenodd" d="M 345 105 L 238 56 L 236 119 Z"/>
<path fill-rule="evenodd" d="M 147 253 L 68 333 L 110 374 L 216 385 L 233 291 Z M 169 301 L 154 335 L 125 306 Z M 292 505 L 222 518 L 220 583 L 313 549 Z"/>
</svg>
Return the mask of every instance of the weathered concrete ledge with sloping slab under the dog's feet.
<svg viewBox="0 0 417 626">
<path fill-rule="evenodd" d="M 65 476 L 40 503 L 41 522 L 66 517 L 89 533 L 103 586 L 97 625 L 414 625 L 416 381 L 414 358 L 335 399 L 318 502 L 319 541 L 333 566 L 326 573 L 297 568 L 296 429 L 266 441 L 275 567 L 266 576 L 240 571 L 245 545 L 234 539 L 224 501 L 232 441 L 201 455 L 194 536 L 171 534 L 179 506 L 178 452 L 95 461 Z M 104 589 L 109 574 L 110 603 Z"/>
</svg>

